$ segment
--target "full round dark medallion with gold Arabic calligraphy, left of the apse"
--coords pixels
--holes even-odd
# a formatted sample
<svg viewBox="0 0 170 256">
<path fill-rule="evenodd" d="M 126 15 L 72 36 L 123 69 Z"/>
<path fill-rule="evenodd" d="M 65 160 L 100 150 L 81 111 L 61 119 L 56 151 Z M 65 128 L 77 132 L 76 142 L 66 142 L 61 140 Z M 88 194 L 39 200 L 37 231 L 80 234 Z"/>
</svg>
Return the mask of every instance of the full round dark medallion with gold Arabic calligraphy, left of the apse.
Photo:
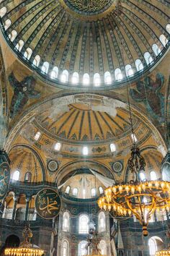
<svg viewBox="0 0 170 256">
<path fill-rule="evenodd" d="M 35 198 L 35 209 L 42 218 L 55 218 L 61 210 L 61 197 L 54 189 L 42 189 Z"/>
</svg>

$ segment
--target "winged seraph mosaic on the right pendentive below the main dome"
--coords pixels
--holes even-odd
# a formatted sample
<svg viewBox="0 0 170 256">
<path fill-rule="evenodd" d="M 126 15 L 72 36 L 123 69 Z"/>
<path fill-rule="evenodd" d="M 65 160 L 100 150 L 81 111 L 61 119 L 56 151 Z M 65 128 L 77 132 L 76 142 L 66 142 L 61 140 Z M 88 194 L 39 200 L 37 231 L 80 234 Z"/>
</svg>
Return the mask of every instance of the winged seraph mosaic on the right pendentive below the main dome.
<svg viewBox="0 0 170 256">
<path fill-rule="evenodd" d="M 164 75 L 156 74 L 156 79 L 145 77 L 143 81 L 136 82 L 136 89 L 130 89 L 134 101 L 143 102 L 149 114 L 159 122 L 164 121 L 164 95 L 161 88 L 164 85 Z"/>
</svg>

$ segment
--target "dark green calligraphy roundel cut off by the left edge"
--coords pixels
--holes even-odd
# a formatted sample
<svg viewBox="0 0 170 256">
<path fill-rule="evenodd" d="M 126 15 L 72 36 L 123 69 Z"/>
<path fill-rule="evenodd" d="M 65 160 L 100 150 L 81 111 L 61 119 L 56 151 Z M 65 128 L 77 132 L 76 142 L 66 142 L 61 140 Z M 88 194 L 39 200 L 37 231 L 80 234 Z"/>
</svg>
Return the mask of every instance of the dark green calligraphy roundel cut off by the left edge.
<svg viewBox="0 0 170 256">
<path fill-rule="evenodd" d="M 0 202 L 4 199 L 9 187 L 10 167 L 6 152 L 0 151 Z"/>
</svg>

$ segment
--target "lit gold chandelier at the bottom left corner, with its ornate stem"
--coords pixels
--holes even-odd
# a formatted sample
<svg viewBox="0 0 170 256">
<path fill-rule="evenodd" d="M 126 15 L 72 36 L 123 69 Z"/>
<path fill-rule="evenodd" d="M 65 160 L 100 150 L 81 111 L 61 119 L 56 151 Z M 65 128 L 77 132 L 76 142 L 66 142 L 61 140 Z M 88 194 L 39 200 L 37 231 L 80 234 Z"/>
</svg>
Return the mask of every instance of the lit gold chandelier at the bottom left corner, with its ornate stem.
<svg viewBox="0 0 170 256">
<path fill-rule="evenodd" d="M 5 255 L 8 256 L 41 256 L 44 251 L 39 247 L 33 247 L 30 244 L 29 239 L 32 238 L 32 231 L 30 226 L 26 226 L 22 232 L 24 241 L 19 245 L 18 248 L 6 248 Z"/>
</svg>

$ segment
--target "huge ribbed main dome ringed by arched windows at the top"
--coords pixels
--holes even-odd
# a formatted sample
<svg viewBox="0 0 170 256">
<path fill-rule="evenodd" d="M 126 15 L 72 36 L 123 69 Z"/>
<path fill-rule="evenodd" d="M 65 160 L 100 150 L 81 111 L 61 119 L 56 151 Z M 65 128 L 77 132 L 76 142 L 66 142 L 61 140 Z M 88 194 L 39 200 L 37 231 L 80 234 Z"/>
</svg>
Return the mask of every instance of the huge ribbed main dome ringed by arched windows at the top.
<svg viewBox="0 0 170 256">
<path fill-rule="evenodd" d="M 9 45 L 40 76 L 99 88 L 133 80 L 161 58 L 169 45 L 167 6 L 158 0 L 1 1 L 0 14 Z"/>
</svg>

